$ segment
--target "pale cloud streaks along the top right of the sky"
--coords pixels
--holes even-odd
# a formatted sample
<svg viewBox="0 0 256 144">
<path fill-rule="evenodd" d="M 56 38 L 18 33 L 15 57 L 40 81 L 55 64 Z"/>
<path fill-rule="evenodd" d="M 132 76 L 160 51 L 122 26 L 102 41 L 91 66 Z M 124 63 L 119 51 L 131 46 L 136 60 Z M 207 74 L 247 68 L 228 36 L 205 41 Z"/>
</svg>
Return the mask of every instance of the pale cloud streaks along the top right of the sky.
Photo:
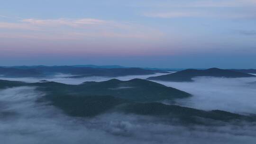
<svg viewBox="0 0 256 144">
<path fill-rule="evenodd" d="M 152 18 L 256 18 L 255 0 L 162 0 L 155 3 L 151 1 L 148 7 L 158 8 L 144 12 L 144 16 Z"/>
</svg>

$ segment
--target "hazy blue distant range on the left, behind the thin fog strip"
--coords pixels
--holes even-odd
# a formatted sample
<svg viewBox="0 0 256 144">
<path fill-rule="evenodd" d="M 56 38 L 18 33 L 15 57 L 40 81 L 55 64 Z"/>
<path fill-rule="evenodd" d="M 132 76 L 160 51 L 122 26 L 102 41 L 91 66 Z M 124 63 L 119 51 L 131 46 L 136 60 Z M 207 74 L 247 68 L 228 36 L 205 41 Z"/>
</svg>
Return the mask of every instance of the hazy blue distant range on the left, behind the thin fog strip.
<svg viewBox="0 0 256 144">
<path fill-rule="evenodd" d="M 72 74 L 71 78 L 81 78 L 89 76 L 126 76 L 126 75 L 147 75 L 159 70 L 145 70 L 140 68 L 91 68 L 91 67 L 74 67 L 74 66 L 15 66 L 0 67 L 0 75 L 6 77 L 46 77 L 56 73 Z"/>
</svg>

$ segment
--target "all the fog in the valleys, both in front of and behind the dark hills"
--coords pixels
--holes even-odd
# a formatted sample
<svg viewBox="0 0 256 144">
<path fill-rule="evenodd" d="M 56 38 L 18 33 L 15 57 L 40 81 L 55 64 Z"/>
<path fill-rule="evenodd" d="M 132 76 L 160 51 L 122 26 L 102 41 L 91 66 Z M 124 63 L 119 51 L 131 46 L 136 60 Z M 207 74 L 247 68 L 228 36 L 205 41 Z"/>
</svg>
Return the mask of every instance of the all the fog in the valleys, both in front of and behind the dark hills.
<svg viewBox="0 0 256 144">
<path fill-rule="evenodd" d="M 114 77 L 119 80 L 145 79 L 138 75 Z M 106 81 L 111 77 L 64 78 L 57 75 L 47 81 L 79 84 L 84 81 Z M 38 78 L 0 78 L 37 82 Z M 193 82 L 155 81 L 191 93 L 176 100 L 176 105 L 202 110 L 225 110 L 256 114 L 256 78 L 197 77 Z M 213 126 L 184 126 L 151 116 L 110 112 L 91 118 L 70 117 L 61 109 L 38 102 L 46 93 L 36 87 L 14 87 L 0 90 L 0 139 L 3 144 L 252 144 L 256 141 L 255 122 L 221 122 Z M 168 104 L 168 101 L 162 101 Z M 209 119 L 204 119 L 209 121 Z"/>
</svg>

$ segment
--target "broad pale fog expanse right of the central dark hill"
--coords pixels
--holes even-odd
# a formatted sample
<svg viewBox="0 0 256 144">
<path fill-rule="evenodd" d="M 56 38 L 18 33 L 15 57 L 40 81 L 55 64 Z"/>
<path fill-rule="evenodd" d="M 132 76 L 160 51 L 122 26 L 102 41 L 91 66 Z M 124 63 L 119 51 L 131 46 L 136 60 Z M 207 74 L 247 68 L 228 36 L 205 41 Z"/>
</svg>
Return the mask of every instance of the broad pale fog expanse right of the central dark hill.
<svg viewBox="0 0 256 144">
<path fill-rule="evenodd" d="M 191 98 L 177 100 L 177 104 L 182 106 L 256 114 L 256 84 L 250 83 L 256 81 L 256 78 L 198 77 L 193 80 L 155 82 L 191 93 Z"/>
</svg>

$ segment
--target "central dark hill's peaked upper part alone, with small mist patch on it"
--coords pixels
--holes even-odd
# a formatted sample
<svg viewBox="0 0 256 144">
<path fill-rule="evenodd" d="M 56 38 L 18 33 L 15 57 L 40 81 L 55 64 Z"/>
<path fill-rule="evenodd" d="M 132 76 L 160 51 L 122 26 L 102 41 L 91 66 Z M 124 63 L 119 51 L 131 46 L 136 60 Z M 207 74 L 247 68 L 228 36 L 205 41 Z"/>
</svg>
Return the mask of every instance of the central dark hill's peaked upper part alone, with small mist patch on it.
<svg viewBox="0 0 256 144">
<path fill-rule="evenodd" d="M 112 79 L 103 82 L 85 82 L 82 85 L 88 89 L 85 92 L 87 95 L 111 95 L 122 99 L 142 102 L 164 99 L 173 100 L 191 96 L 184 91 L 142 79 L 133 79 L 130 81 Z"/>
</svg>

